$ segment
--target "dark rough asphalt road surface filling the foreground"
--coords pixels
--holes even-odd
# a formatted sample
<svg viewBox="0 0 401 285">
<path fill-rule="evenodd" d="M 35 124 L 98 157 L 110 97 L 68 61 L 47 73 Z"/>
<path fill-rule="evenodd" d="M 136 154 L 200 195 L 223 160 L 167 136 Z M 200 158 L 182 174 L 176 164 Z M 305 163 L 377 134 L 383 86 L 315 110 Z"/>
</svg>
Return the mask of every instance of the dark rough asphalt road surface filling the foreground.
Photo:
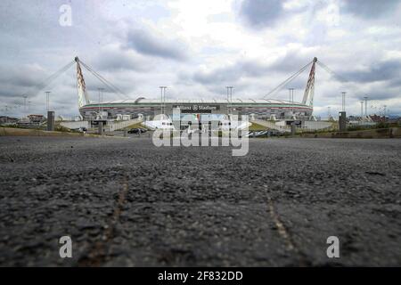
<svg viewBox="0 0 401 285">
<path fill-rule="evenodd" d="M 0 137 L 0 265 L 399 266 L 400 149 L 250 139 L 233 157 L 147 137 Z"/>
</svg>

